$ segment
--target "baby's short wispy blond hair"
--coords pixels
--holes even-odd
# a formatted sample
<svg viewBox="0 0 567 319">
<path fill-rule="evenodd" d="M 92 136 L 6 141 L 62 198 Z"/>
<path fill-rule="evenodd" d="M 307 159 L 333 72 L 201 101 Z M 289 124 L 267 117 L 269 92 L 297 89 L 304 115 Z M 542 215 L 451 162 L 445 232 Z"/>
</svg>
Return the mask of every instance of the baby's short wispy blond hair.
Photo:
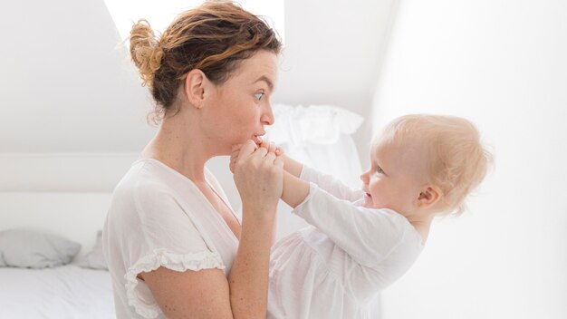
<svg viewBox="0 0 567 319">
<path fill-rule="evenodd" d="M 402 116 L 389 123 L 380 140 L 419 143 L 427 164 L 425 178 L 441 189 L 441 210 L 455 216 L 466 210 L 466 196 L 485 179 L 493 162 L 475 125 L 455 116 Z"/>
</svg>

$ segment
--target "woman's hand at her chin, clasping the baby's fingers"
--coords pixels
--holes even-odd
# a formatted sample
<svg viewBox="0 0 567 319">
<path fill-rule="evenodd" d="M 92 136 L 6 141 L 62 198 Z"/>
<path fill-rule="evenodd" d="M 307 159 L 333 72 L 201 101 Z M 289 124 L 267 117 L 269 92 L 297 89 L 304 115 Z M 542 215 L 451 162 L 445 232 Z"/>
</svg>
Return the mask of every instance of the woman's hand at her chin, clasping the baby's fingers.
<svg viewBox="0 0 567 319">
<path fill-rule="evenodd" d="M 273 143 L 264 143 L 257 147 L 253 140 L 246 140 L 242 148 L 233 148 L 230 167 L 243 212 L 272 220 L 283 191 L 283 158 L 276 156 Z"/>
</svg>

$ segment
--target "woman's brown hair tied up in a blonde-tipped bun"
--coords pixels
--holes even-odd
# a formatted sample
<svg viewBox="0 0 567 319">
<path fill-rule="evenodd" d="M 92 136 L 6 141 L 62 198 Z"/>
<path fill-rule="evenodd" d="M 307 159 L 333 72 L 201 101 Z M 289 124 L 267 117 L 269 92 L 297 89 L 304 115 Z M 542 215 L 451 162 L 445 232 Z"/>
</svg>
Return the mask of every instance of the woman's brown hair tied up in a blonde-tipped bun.
<svg viewBox="0 0 567 319">
<path fill-rule="evenodd" d="M 216 84 L 258 50 L 280 53 L 282 44 L 260 17 L 232 1 L 207 1 L 185 11 L 156 36 L 148 21 L 130 31 L 130 54 L 155 102 L 150 120 L 159 123 L 174 109 L 179 86 L 193 69 Z M 175 111 L 175 110 L 174 110 Z"/>
</svg>

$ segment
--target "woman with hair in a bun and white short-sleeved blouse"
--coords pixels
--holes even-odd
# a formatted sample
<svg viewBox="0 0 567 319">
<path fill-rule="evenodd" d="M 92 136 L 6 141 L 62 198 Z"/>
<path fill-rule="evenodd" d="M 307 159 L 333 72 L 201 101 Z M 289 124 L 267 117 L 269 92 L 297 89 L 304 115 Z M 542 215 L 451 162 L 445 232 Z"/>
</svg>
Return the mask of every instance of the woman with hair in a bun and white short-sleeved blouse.
<svg viewBox="0 0 567 319">
<path fill-rule="evenodd" d="M 269 251 L 283 163 L 248 141 L 238 179 L 243 222 L 205 168 L 274 122 L 281 43 L 229 2 L 180 14 L 159 39 L 132 27 L 130 53 L 156 101 L 159 131 L 114 190 L 104 251 L 120 318 L 265 317 Z"/>
</svg>

